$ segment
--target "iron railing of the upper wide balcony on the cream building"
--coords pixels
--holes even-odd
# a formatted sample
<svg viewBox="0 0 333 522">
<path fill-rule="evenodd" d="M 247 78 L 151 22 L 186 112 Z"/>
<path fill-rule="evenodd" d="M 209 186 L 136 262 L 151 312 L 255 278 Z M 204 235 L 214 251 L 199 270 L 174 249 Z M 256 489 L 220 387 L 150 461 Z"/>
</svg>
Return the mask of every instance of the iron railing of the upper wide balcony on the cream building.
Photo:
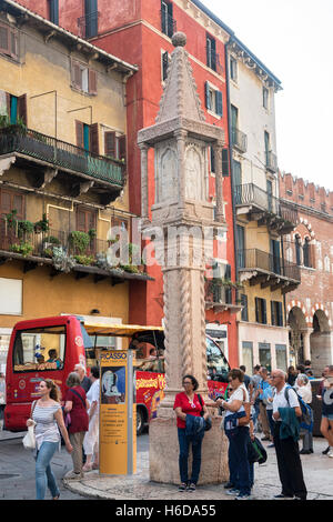
<svg viewBox="0 0 333 522">
<path fill-rule="evenodd" d="M 289 231 L 297 224 L 299 213 L 292 207 L 284 204 L 279 198 L 270 194 L 265 190 L 253 183 L 235 185 L 235 205 L 253 207 L 253 211 L 263 211 L 276 215 L 284 221 L 284 227 Z M 285 232 L 286 233 L 286 232 Z"/>
</svg>

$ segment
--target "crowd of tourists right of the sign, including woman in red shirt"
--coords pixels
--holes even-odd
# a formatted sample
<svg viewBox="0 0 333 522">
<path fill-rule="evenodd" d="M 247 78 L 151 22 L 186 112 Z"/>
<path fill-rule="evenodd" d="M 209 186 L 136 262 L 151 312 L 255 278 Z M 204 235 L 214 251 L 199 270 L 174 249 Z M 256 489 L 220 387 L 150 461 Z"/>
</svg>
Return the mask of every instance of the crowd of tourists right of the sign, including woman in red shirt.
<svg viewBox="0 0 333 522">
<path fill-rule="evenodd" d="M 322 401 L 321 432 L 329 446 L 324 454 L 333 458 L 333 365 L 325 367 L 317 399 Z M 306 500 L 300 455 L 312 454 L 313 401 L 311 362 L 296 369 L 291 367 L 269 372 L 256 365 L 253 375 L 246 375 L 245 367 L 229 373 L 226 395 L 216 400 L 223 411 L 221 426 L 229 439 L 230 479 L 225 484 L 228 495 L 235 500 L 250 500 L 254 484 L 254 465 L 250 459 L 249 443 L 262 432 L 262 441 L 274 448 L 281 493 L 275 499 Z M 209 416 L 202 399 L 195 394 L 198 382 L 193 375 L 183 378 L 184 391 L 175 396 L 174 411 L 179 436 L 180 491 L 194 491 L 200 476 L 201 448 Z M 299 440 L 303 448 L 299 449 Z M 192 474 L 189 479 L 188 458 L 192 443 Z"/>
</svg>

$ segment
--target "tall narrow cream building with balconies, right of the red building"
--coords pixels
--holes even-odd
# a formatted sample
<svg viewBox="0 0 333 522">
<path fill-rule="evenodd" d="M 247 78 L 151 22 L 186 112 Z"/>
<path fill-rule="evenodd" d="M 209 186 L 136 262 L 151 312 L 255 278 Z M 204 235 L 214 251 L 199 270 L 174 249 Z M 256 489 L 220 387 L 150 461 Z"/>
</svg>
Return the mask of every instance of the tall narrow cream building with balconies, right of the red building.
<svg viewBox="0 0 333 522">
<path fill-rule="evenodd" d="M 286 370 L 284 300 L 300 283 L 300 270 L 282 249 L 297 213 L 279 197 L 274 97 L 281 82 L 236 37 L 228 44 L 228 64 L 235 259 L 243 284 L 239 357 L 249 372 L 258 363 Z"/>
</svg>

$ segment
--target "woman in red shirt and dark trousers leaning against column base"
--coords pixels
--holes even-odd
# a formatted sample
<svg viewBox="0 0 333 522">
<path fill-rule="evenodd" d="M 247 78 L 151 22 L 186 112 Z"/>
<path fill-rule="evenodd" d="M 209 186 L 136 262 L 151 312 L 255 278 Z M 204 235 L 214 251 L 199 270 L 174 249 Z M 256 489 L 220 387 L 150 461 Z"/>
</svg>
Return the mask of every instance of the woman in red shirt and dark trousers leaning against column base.
<svg viewBox="0 0 333 522">
<path fill-rule="evenodd" d="M 200 403 L 199 395 L 195 391 L 199 388 L 199 383 L 193 375 L 185 375 L 183 378 L 184 391 L 175 395 L 173 409 L 176 414 L 176 426 L 178 426 L 178 440 L 180 446 L 179 454 L 179 471 L 181 476 L 181 484 L 179 491 L 195 491 L 196 482 L 199 480 L 200 468 L 201 468 L 201 446 L 204 435 L 204 422 L 201 419 L 209 416 L 208 409 L 201 399 Z M 202 415 L 203 412 L 203 415 Z M 188 419 L 188 415 L 199 418 L 195 422 L 194 430 L 191 430 L 189 434 L 189 426 L 193 426 L 193 419 Z M 188 430 L 186 430 L 188 429 Z M 188 460 L 190 443 L 192 444 L 192 474 L 189 480 Z"/>
</svg>

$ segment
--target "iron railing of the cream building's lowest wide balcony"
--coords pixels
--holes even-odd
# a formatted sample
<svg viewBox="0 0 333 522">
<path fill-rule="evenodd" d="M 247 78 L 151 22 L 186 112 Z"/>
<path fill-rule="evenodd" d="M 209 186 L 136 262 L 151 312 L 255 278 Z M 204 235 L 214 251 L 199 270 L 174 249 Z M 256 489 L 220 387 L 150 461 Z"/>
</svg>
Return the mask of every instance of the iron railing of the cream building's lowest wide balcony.
<svg viewBox="0 0 333 522">
<path fill-rule="evenodd" d="M 256 270 L 281 275 L 301 282 L 301 270 L 295 263 L 258 249 L 239 250 L 238 268 Z"/>
</svg>

